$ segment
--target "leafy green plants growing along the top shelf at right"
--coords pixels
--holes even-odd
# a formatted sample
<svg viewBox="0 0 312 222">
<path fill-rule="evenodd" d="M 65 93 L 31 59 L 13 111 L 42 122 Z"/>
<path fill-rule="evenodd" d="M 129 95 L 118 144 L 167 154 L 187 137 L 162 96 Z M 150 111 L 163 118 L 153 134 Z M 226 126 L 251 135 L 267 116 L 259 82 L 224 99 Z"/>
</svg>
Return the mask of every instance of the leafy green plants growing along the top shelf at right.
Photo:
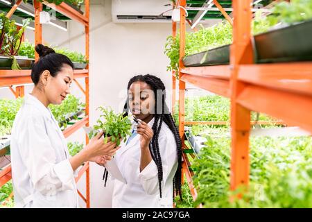
<svg viewBox="0 0 312 222">
<path fill-rule="evenodd" d="M 261 10 L 256 13 L 252 21 L 252 33 L 254 35 L 268 31 L 272 26 L 279 23 L 293 24 L 312 18 L 311 0 L 294 0 L 291 3 L 281 1 L 272 8 L 272 14 L 263 17 Z M 228 22 L 220 22 L 217 25 L 204 28 L 195 33 L 186 33 L 185 35 L 185 56 L 189 56 L 201 51 L 214 49 L 232 43 L 232 26 Z M 165 44 L 164 53 L 170 59 L 170 65 L 167 71 L 177 71 L 180 58 L 180 36 L 173 38 L 168 36 Z"/>
</svg>

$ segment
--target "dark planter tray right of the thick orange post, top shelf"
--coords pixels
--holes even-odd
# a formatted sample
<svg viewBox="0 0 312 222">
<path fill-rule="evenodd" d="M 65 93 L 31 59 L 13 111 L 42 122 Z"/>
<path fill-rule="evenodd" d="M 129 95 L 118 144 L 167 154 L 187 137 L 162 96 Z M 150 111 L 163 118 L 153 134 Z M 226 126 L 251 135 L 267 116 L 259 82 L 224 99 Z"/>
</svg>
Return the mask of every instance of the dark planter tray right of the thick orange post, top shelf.
<svg viewBox="0 0 312 222">
<path fill-rule="evenodd" d="M 312 20 L 254 36 L 257 63 L 312 60 Z"/>
</svg>

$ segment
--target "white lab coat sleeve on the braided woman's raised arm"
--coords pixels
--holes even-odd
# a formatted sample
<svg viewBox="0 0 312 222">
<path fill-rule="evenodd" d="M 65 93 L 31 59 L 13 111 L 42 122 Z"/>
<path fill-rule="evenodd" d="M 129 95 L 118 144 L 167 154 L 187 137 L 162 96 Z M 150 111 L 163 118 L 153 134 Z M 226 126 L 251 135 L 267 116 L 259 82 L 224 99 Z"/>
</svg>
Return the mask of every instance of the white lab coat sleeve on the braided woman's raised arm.
<svg viewBox="0 0 312 222">
<path fill-rule="evenodd" d="M 164 187 L 164 183 L 168 180 L 168 176 L 173 170 L 175 163 L 177 162 L 175 140 L 167 137 L 166 135 L 162 135 L 162 137 L 159 137 L 159 151 L 162 157 L 162 187 Z M 143 169 L 143 171 L 139 173 L 139 181 L 146 191 L 146 194 L 159 194 L 157 165 L 155 164 L 154 160 L 152 160 Z"/>
</svg>

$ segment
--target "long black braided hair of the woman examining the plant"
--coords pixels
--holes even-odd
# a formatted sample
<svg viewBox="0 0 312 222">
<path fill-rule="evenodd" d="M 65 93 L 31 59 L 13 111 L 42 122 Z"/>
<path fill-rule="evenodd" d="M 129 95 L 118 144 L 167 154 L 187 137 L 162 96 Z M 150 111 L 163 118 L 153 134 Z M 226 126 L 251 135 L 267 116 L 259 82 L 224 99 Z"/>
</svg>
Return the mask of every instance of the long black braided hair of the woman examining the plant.
<svg viewBox="0 0 312 222">
<path fill-rule="evenodd" d="M 163 180 L 163 171 L 162 171 L 162 157 L 159 152 L 159 144 L 158 144 L 158 137 L 160 129 L 162 128 L 162 123 L 166 123 L 168 128 L 171 130 L 175 137 L 175 144 L 177 145 L 177 171 L 175 172 L 175 176 L 173 178 L 173 194 L 179 195 L 182 200 L 182 192 L 181 192 L 181 177 L 182 177 L 182 142 L 180 139 L 179 131 L 175 126 L 175 122 L 173 121 L 173 117 L 168 110 L 168 106 L 166 105 L 165 99 L 165 89 L 164 83 L 160 78 L 156 76 L 146 74 L 144 76 L 138 75 L 134 76 L 129 80 L 127 89 L 130 89 L 130 85 L 137 81 L 147 83 L 152 87 L 153 92 L 155 94 L 155 112 L 154 118 L 155 121 L 152 126 L 153 130 L 153 138 L 150 142 L 150 155 L 152 156 L 158 171 L 158 184 L 159 184 L 159 194 L 160 198 L 162 198 L 162 180 Z M 157 101 L 157 99 L 161 99 L 161 101 Z M 158 104 L 162 104 L 162 108 L 159 112 Z M 129 99 L 127 99 L 123 112 L 124 115 L 128 115 L 128 108 L 129 108 Z"/>
</svg>

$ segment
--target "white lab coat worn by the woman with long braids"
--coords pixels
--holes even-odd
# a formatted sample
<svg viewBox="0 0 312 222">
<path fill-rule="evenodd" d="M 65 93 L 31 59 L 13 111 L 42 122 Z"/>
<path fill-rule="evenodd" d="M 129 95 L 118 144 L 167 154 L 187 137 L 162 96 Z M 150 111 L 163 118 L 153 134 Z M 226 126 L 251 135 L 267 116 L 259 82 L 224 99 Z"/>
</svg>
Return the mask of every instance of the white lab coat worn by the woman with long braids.
<svg viewBox="0 0 312 222">
<path fill-rule="evenodd" d="M 148 126 L 152 127 L 154 119 Z M 123 143 L 116 152 L 115 160 L 127 184 L 114 179 L 112 207 L 173 207 L 173 178 L 177 170 L 177 146 L 173 133 L 166 123 L 162 123 L 159 133 L 159 151 L 162 157 L 163 181 L 162 198 L 159 196 L 157 166 L 152 160 L 141 171 L 140 135 Z"/>
</svg>

